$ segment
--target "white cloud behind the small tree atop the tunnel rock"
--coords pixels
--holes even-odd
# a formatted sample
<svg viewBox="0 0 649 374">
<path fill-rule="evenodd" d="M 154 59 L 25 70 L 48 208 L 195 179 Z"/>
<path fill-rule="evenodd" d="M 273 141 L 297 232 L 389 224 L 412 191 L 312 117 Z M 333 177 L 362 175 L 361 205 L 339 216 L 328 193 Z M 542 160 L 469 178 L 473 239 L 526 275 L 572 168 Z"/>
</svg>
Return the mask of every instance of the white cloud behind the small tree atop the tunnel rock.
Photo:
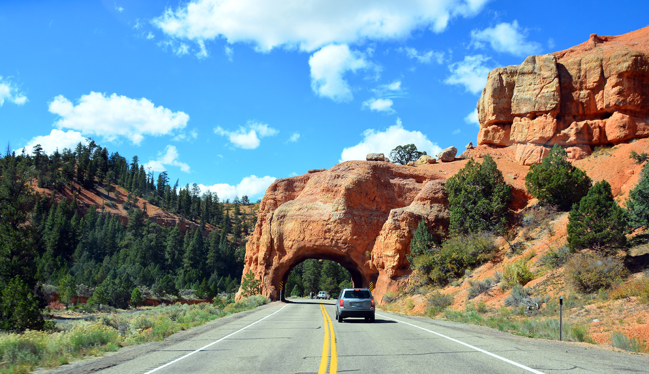
<svg viewBox="0 0 649 374">
<path fill-rule="evenodd" d="M 357 145 L 343 149 L 340 162 L 352 159 L 364 160 L 368 153 L 382 153 L 386 156 L 398 145 L 414 144 L 417 150 L 436 154 L 441 150 L 437 143 L 428 140 L 426 135 L 419 131 L 408 131 L 397 119 L 397 124 L 390 126 L 385 131 L 368 128 L 363 132 L 363 140 Z"/>
</svg>

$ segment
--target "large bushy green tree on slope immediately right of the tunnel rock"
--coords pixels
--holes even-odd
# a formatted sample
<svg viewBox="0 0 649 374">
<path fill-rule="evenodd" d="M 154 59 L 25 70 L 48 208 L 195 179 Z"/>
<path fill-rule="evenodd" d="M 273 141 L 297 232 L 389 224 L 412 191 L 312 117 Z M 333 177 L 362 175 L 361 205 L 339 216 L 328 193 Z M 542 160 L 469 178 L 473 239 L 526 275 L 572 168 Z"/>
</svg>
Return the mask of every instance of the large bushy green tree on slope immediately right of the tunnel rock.
<svg viewBox="0 0 649 374">
<path fill-rule="evenodd" d="M 448 178 L 446 189 L 452 232 L 504 229 L 511 187 L 489 154 L 485 154 L 482 164 L 470 159 L 458 174 Z"/>
</svg>

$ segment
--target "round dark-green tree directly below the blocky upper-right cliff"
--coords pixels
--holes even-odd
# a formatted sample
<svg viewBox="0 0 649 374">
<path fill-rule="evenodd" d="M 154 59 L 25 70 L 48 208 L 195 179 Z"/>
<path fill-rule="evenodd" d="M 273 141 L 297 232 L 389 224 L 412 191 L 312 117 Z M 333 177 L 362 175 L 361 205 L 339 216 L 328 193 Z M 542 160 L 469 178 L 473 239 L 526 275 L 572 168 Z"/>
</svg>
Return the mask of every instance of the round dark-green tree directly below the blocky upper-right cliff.
<svg viewBox="0 0 649 374">
<path fill-rule="evenodd" d="M 555 144 L 541 165 L 532 165 L 525 176 L 525 187 L 542 205 L 557 205 L 567 211 L 591 188 L 591 178 L 572 166 L 567 153 Z"/>
</svg>

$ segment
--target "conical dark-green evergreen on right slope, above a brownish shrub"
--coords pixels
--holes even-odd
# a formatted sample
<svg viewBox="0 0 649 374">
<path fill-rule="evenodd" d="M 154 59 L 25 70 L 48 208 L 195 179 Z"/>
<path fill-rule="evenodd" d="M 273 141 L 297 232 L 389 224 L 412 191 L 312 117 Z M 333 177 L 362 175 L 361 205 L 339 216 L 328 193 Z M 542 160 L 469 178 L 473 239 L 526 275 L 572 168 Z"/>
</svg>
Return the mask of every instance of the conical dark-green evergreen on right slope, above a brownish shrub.
<svg viewBox="0 0 649 374">
<path fill-rule="evenodd" d="M 591 248 L 604 253 L 626 245 L 626 222 L 622 208 L 613 200 L 611 185 L 595 183 L 570 211 L 568 244 L 572 250 Z"/>
</svg>

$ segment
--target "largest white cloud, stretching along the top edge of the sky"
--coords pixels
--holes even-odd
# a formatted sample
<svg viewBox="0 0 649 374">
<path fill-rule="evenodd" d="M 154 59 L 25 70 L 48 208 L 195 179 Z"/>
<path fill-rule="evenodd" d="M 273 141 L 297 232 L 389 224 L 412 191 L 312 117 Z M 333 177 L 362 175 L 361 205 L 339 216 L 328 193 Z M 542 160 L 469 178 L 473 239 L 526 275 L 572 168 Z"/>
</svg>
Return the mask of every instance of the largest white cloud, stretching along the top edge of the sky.
<svg viewBox="0 0 649 374">
<path fill-rule="evenodd" d="M 332 43 L 402 40 L 413 30 L 441 32 L 488 0 L 193 0 L 152 20 L 173 38 L 251 43 L 315 51 Z"/>
</svg>

